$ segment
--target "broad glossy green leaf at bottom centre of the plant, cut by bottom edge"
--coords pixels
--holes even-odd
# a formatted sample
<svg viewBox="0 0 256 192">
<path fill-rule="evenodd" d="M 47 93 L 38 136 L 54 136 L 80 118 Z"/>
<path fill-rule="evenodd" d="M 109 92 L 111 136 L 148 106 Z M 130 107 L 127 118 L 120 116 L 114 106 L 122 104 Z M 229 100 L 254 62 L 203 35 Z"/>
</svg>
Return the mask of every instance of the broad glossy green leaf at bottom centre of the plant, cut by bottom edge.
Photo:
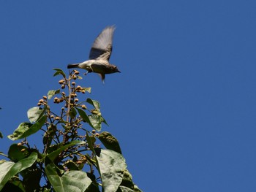
<svg viewBox="0 0 256 192">
<path fill-rule="evenodd" d="M 59 176 L 56 166 L 53 163 L 46 165 L 45 172 L 56 192 L 82 192 L 86 191 L 86 188 L 91 185 L 91 180 L 87 177 L 86 172 L 69 171 Z"/>
</svg>

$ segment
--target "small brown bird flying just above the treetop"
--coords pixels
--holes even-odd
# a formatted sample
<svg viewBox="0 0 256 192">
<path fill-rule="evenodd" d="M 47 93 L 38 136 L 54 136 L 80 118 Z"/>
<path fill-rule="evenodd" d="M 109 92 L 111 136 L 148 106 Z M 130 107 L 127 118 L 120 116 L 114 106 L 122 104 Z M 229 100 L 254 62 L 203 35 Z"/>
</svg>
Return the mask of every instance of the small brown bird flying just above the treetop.
<svg viewBox="0 0 256 192">
<path fill-rule="evenodd" d="M 101 77 L 102 82 L 105 80 L 105 74 L 119 72 L 117 66 L 109 63 L 110 55 L 112 53 L 114 31 L 114 26 L 104 28 L 94 40 L 94 44 L 92 45 L 89 54 L 89 60 L 83 61 L 79 64 L 69 64 L 67 65 L 67 68 L 86 69 L 86 74 L 91 72 L 97 73 Z"/>
</svg>

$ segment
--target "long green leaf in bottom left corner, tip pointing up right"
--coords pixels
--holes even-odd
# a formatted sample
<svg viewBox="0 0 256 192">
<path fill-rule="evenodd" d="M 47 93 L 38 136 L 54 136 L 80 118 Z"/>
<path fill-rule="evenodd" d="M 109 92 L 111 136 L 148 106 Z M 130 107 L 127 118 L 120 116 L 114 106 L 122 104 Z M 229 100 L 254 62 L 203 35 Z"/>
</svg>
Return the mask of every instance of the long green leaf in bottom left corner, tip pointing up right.
<svg viewBox="0 0 256 192">
<path fill-rule="evenodd" d="M 31 153 L 28 158 L 23 158 L 22 160 L 14 163 L 12 161 L 5 161 L 0 164 L 0 191 L 4 185 L 22 170 L 30 167 L 37 160 L 37 153 Z"/>
</svg>

